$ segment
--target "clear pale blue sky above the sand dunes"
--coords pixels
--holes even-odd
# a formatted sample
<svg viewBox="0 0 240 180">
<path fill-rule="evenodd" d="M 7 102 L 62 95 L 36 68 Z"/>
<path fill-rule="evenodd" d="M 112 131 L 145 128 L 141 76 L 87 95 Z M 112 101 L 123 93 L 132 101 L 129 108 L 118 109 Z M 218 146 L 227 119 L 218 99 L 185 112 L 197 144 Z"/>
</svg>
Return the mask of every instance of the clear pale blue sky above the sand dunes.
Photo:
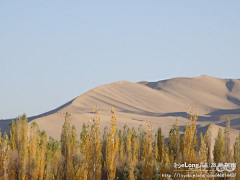
<svg viewBox="0 0 240 180">
<path fill-rule="evenodd" d="M 0 119 L 121 80 L 240 79 L 240 1 L 0 1 Z"/>
</svg>

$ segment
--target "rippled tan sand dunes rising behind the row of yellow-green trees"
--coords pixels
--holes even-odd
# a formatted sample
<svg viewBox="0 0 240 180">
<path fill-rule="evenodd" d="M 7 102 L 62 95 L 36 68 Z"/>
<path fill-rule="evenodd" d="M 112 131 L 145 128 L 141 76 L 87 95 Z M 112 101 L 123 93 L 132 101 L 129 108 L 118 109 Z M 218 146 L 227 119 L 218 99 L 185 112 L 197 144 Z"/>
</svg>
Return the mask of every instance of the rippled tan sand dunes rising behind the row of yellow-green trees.
<svg viewBox="0 0 240 180">
<path fill-rule="evenodd" d="M 187 105 L 192 105 L 188 107 Z M 158 82 L 132 83 L 120 81 L 94 88 L 65 105 L 29 118 L 37 122 L 48 135 L 59 139 L 66 112 L 79 134 L 82 124 L 91 117 L 92 107 L 98 105 L 102 118 L 101 128 L 109 126 L 110 109 L 114 107 L 118 117 L 118 127 L 125 124 L 138 128 L 146 122 L 153 123 L 153 131 L 161 127 L 167 137 L 173 123 L 177 121 L 183 130 L 188 122 L 188 112 L 199 115 L 197 128 L 204 133 L 212 123 L 214 136 L 219 127 L 225 126 L 225 119 L 231 119 L 231 142 L 240 130 L 240 80 L 219 79 L 203 75 L 196 78 L 174 78 Z M 8 129 L 10 121 L 0 121 L 2 131 Z"/>
</svg>

